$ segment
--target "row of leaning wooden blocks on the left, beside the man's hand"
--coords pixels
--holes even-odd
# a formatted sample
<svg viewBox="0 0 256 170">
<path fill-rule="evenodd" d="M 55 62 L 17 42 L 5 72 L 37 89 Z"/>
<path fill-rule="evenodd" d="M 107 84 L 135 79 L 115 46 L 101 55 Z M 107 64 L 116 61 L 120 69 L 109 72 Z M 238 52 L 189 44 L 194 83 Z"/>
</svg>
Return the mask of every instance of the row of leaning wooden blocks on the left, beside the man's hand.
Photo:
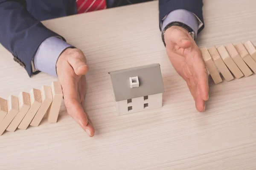
<svg viewBox="0 0 256 170">
<path fill-rule="evenodd" d="M 48 122 L 56 123 L 62 99 L 59 82 L 8 99 L 0 98 L 0 135 L 5 130 L 14 132 L 17 128 L 26 130 L 29 125 L 38 126 L 46 113 Z"/>
</svg>

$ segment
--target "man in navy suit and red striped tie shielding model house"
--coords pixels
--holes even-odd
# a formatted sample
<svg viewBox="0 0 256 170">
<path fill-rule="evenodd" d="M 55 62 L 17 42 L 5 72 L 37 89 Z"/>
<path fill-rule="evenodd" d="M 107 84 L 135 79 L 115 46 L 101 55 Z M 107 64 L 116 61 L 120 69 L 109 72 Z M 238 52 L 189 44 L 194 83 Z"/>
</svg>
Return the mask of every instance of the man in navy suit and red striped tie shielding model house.
<svg viewBox="0 0 256 170">
<path fill-rule="evenodd" d="M 94 136 L 94 128 L 81 103 L 88 71 L 83 52 L 40 21 L 64 17 L 92 8 L 113 8 L 148 0 L 0 0 L 0 43 L 31 77 L 42 71 L 58 76 L 68 114 Z M 95 4 L 97 5 L 95 6 Z M 105 4 L 105 6 L 102 6 Z M 172 65 L 187 82 L 198 111 L 208 99 L 207 70 L 195 43 L 204 28 L 202 0 L 159 0 L 159 26 Z"/>
</svg>

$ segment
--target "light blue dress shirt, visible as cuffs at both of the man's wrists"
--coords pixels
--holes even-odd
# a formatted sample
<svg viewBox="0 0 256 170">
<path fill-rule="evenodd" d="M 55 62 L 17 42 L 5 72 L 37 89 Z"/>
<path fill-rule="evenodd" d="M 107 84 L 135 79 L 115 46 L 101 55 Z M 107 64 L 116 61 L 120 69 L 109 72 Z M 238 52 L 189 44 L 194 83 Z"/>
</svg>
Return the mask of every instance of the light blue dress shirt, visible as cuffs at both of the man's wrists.
<svg viewBox="0 0 256 170">
<path fill-rule="evenodd" d="M 162 30 L 169 23 L 174 21 L 184 23 L 192 28 L 192 30 L 195 31 L 195 36 L 198 33 L 198 29 L 202 26 L 202 22 L 195 14 L 184 9 L 177 9 L 170 12 L 168 15 L 166 15 L 166 17 L 164 17 L 161 23 Z M 73 45 L 68 44 L 67 42 L 61 40 L 58 37 L 49 37 L 44 40 L 39 46 L 33 59 L 33 72 L 42 71 L 44 73 L 57 77 L 56 63 L 58 57 L 66 48 L 69 47 L 73 47 Z"/>
</svg>

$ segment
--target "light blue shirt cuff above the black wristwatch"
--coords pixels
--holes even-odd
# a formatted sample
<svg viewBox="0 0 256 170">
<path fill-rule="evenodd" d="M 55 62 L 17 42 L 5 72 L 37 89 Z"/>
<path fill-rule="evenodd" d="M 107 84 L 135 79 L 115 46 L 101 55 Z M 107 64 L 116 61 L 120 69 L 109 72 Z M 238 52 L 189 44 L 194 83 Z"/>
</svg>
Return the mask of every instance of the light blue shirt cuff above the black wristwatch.
<svg viewBox="0 0 256 170">
<path fill-rule="evenodd" d="M 193 14 L 190 11 L 187 11 L 185 9 L 177 9 L 172 12 L 170 12 L 166 17 L 163 18 L 162 22 L 162 30 L 172 22 L 180 22 L 184 23 L 190 28 L 192 28 L 193 31 L 195 31 L 195 37 L 197 36 L 198 29 L 203 26 L 203 23 L 199 18 Z"/>
</svg>

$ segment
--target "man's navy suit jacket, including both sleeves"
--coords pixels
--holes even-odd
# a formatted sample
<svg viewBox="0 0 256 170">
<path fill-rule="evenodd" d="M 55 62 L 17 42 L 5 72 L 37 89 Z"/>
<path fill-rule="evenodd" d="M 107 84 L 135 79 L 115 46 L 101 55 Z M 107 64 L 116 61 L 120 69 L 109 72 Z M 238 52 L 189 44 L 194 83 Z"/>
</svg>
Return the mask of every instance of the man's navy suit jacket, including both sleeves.
<svg viewBox="0 0 256 170">
<path fill-rule="evenodd" d="M 130 1 L 140 3 L 149 0 Z M 204 22 L 202 1 L 159 0 L 159 22 L 175 9 L 191 11 Z M 129 1 L 115 2 L 115 6 L 124 6 Z M 76 8 L 76 0 L 0 0 L 0 43 L 31 76 L 31 61 L 41 42 L 48 37 L 61 36 L 44 27 L 40 21 L 76 14 Z"/>
</svg>

